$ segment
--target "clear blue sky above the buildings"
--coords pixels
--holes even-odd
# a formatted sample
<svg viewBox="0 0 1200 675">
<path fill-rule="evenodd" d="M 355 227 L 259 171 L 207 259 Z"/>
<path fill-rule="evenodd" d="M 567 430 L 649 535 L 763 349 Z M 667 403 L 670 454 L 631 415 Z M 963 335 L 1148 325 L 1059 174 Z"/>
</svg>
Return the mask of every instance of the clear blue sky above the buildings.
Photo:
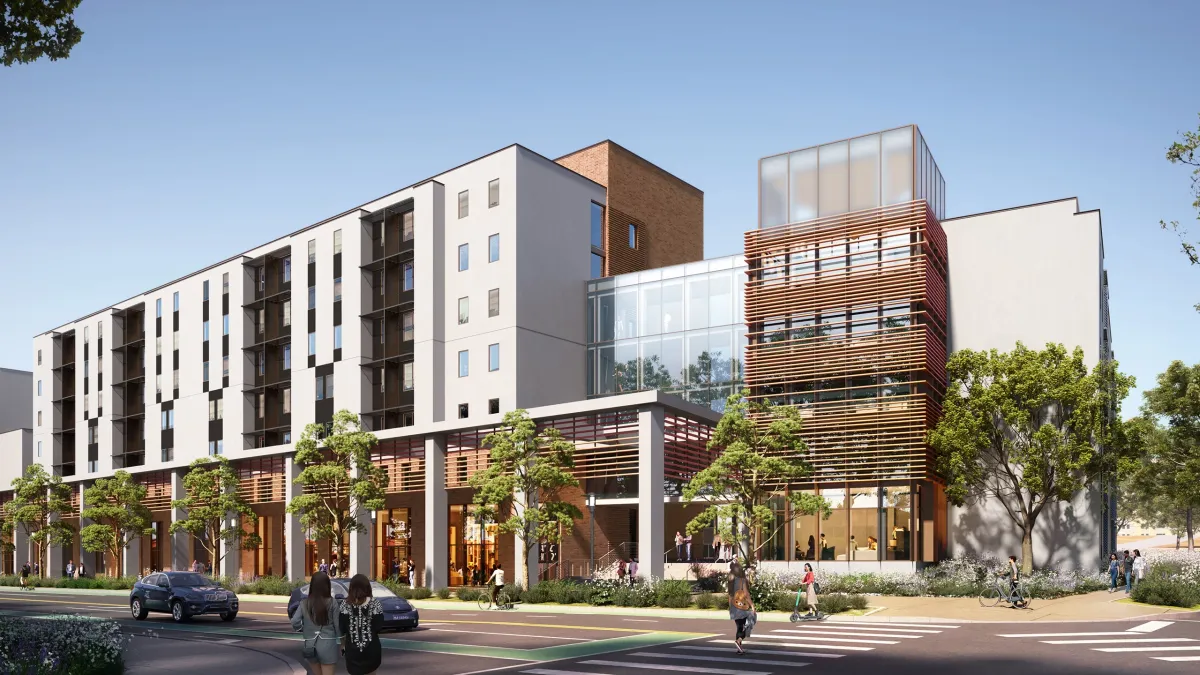
<svg viewBox="0 0 1200 675">
<path fill-rule="evenodd" d="M 1157 227 L 1195 222 L 1163 159 L 1200 113 L 1195 11 L 89 0 L 68 60 L 0 68 L 0 365 L 514 142 L 557 157 L 611 138 L 698 186 L 715 257 L 755 226 L 758 157 L 916 123 L 947 216 L 1102 209 L 1115 350 L 1152 386 L 1200 362 L 1200 267 Z"/>
</svg>

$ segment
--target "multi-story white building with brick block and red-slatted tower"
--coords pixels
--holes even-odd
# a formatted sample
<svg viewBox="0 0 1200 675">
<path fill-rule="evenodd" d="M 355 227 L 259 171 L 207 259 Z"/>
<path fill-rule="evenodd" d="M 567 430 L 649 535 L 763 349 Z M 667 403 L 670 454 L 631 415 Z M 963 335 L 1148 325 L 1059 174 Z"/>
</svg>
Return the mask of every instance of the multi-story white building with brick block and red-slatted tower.
<svg viewBox="0 0 1200 675">
<path fill-rule="evenodd" d="M 745 251 L 702 259 L 695 187 L 611 142 L 557 161 L 511 145 L 36 336 L 31 442 L 44 452 L 29 461 L 76 485 L 65 518 L 78 524 L 84 488 L 125 468 L 155 519 L 124 561 L 76 543 L 50 571 L 67 557 L 130 571 L 203 560 L 167 534 L 181 515 L 170 500 L 191 461 L 223 455 L 256 512 L 242 527 L 263 538 L 224 572 L 310 573 L 336 546 L 286 513 L 300 489 L 293 443 L 348 410 L 378 436 L 389 484 L 343 567 L 384 577 L 413 557 L 442 586 L 497 562 L 575 574 L 638 555 L 662 575 L 697 510 L 679 489 L 712 460 L 712 428 L 743 387 L 802 408 L 815 473 L 791 488 L 834 506 L 781 532 L 769 563 L 912 568 L 988 545 L 948 518 L 924 442 L 947 354 L 1091 334 L 1085 350 L 1104 358 L 1106 303 L 1014 307 L 1030 324 L 1016 329 L 980 309 L 1016 303 L 996 280 L 1026 274 L 991 241 L 1021 246 L 1032 231 L 1058 275 L 1043 283 L 1100 288 L 1098 215 L 947 219 L 916 126 L 770 156 L 758 173 Z M 1055 263 L 1067 247 L 1072 264 Z M 482 438 L 515 408 L 576 446 L 581 484 L 566 496 L 584 519 L 553 560 L 522 560 L 470 513 Z M 698 533 L 694 555 L 712 557 L 710 544 Z"/>
</svg>

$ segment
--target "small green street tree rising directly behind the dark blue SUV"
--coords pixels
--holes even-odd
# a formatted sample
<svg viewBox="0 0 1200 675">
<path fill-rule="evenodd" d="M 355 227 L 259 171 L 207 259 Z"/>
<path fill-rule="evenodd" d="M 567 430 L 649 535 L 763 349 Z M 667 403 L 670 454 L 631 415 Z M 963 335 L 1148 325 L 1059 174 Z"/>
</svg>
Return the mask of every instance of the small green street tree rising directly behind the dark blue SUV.
<svg viewBox="0 0 1200 675">
<path fill-rule="evenodd" d="M 241 518 L 256 518 L 254 509 L 238 494 L 238 472 L 221 455 L 199 458 L 184 476 L 184 498 L 170 506 L 184 510 L 184 519 L 170 524 L 168 531 L 187 532 L 209 554 L 212 574 L 221 575 L 224 560 L 221 544 L 245 550 L 263 545 L 263 538 L 241 528 Z M 228 549 L 227 549 L 228 550 Z"/>
</svg>

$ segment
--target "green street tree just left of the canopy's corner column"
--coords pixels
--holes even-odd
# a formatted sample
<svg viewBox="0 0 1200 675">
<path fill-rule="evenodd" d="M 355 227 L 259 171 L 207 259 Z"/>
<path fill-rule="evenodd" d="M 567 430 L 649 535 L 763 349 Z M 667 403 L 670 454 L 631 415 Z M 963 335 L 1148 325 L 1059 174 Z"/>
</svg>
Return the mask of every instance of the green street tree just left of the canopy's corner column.
<svg viewBox="0 0 1200 675">
<path fill-rule="evenodd" d="M 553 426 L 538 431 L 538 424 L 523 410 L 504 414 L 499 431 L 484 438 L 491 448 L 487 468 L 470 477 L 475 489 L 475 518 L 496 522 L 500 532 L 517 534 L 529 560 L 539 542 L 558 543 L 563 533 L 583 518 L 580 509 L 558 498 L 562 488 L 576 486 L 571 476 L 575 446 Z M 524 586 L 532 574 L 524 567 Z"/>
</svg>

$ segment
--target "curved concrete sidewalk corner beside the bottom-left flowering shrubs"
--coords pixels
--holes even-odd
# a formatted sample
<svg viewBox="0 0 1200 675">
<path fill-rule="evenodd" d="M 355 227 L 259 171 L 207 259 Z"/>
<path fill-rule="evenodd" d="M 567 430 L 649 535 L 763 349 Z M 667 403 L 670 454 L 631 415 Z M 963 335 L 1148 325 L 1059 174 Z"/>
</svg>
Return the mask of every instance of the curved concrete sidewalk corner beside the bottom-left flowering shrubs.
<svg viewBox="0 0 1200 675">
<path fill-rule="evenodd" d="M 296 649 L 299 656 L 299 647 Z M 295 658 L 220 640 L 182 640 L 133 635 L 125 650 L 126 675 L 154 673 L 253 673 L 305 675 Z"/>
</svg>

